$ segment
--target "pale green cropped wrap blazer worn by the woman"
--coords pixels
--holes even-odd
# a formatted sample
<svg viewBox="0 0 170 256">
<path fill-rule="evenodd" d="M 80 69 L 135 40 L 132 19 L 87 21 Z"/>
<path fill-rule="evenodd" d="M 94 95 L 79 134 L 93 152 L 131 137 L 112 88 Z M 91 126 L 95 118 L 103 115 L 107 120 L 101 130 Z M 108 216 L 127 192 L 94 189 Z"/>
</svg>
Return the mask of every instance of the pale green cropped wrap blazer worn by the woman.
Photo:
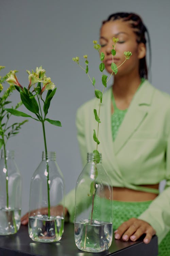
<svg viewBox="0 0 170 256">
<path fill-rule="evenodd" d="M 115 141 L 111 132 L 111 93 L 103 94 L 100 109 L 98 150 L 112 185 L 158 193 L 157 189 L 141 187 L 166 179 L 165 190 L 138 218 L 156 230 L 159 243 L 170 230 L 170 96 L 154 88 L 147 80 L 136 91 L 119 127 Z M 94 98 L 77 111 L 77 137 L 83 166 L 87 152 L 96 149 L 93 129 L 97 122 L 93 110 L 99 107 Z M 71 219 L 74 212 L 74 190 L 66 196 Z"/>
</svg>

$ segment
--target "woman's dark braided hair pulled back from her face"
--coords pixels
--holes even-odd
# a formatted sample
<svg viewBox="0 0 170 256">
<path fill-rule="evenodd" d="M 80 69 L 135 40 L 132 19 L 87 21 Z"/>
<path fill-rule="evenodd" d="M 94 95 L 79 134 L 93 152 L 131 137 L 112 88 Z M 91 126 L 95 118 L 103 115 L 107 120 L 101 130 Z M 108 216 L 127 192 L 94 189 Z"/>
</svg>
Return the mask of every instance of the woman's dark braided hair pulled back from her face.
<svg viewBox="0 0 170 256">
<path fill-rule="evenodd" d="M 114 13 L 108 16 L 106 20 L 103 21 L 102 24 L 105 24 L 109 21 L 114 21 L 117 19 L 121 19 L 125 22 L 129 22 L 130 26 L 133 28 L 134 33 L 137 36 L 137 43 L 144 43 L 146 45 L 146 34 L 148 38 L 148 45 L 149 45 L 149 67 L 151 66 L 151 43 L 150 43 L 150 36 L 148 29 L 146 28 L 145 24 L 141 17 L 135 13 L 126 13 L 126 12 L 119 12 Z M 146 62 L 146 56 L 139 60 L 139 74 L 140 77 L 144 77 L 148 79 L 148 68 Z"/>
</svg>

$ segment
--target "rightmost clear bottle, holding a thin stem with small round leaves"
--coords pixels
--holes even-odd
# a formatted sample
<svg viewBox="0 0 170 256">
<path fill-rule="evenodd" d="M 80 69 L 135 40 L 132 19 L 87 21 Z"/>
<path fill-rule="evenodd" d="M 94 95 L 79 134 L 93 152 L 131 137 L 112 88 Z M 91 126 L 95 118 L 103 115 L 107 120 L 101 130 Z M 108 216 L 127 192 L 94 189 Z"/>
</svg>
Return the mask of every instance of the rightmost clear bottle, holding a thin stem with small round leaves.
<svg viewBox="0 0 170 256">
<path fill-rule="evenodd" d="M 87 153 L 87 164 L 75 188 L 74 238 L 86 252 L 106 251 L 113 237 L 113 188 L 99 159 Z"/>
</svg>

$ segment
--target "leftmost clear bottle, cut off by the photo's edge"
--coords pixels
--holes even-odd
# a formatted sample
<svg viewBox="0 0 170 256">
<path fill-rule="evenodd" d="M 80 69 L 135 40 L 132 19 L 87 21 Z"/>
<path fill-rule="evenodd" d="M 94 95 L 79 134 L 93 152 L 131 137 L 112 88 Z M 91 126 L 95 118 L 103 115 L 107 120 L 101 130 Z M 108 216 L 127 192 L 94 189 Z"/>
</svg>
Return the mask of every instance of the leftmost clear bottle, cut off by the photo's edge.
<svg viewBox="0 0 170 256">
<path fill-rule="evenodd" d="M 0 159 L 0 235 L 15 234 L 21 224 L 21 175 L 14 151 L 1 151 Z"/>
</svg>

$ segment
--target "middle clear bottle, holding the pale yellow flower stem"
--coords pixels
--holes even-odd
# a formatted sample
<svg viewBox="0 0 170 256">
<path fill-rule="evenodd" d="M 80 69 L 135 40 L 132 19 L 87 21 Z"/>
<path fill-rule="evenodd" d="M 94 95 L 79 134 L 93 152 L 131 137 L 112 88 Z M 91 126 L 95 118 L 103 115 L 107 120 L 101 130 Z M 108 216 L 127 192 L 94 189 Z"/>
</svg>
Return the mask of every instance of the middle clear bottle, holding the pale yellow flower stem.
<svg viewBox="0 0 170 256">
<path fill-rule="evenodd" d="M 43 152 L 32 176 L 28 231 L 33 241 L 57 242 L 64 232 L 65 183 L 55 158 L 55 152 L 47 157 Z"/>
</svg>

